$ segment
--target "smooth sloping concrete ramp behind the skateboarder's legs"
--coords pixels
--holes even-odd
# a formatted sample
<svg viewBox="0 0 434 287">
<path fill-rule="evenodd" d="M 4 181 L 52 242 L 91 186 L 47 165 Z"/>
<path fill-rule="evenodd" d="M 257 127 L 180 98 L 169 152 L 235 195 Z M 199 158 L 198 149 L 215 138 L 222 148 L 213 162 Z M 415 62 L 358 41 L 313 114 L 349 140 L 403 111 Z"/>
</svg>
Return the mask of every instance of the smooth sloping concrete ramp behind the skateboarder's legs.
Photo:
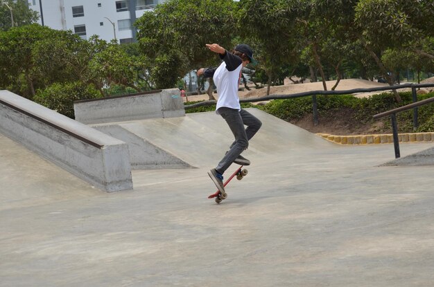
<svg viewBox="0 0 434 287">
<path fill-rule="evenodd" d="M 250 141 L 244 153 L 246 157 L 275 158 L 293 149 L 338 148 L 309 131 L 259 109 L 248 111 L 257 116 L 263 125 Z M 98 124 L 94 127 L 128 142 L 132 165 L 144 168 L 153 165 L 162 165 L 162 168 L 164 165 L 215 165 L 234 140 L 225 120 L 214 112 L 192 113 L 179 118 Z M 139 164 L 149 160 L 153 165 Z"/>
</svg>

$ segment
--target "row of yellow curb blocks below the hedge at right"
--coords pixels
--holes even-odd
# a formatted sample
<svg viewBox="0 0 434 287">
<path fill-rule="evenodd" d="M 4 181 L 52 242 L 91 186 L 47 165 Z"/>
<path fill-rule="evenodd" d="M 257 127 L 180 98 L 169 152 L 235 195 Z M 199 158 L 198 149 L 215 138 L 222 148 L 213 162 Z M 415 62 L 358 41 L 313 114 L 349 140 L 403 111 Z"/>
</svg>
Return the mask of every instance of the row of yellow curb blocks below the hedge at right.
<svg viewBox="0 0 434 287">
<path fill-rule="evenodd" d="M 336 136 L 329 133 L 317 133 L 318 136 L 339 145 L 378 145 L 393 143 L 393 135 L 376 134 L 361 136 Z M 434 142 L 434 133 L 399 133 L 399 142 Z"/>
</svg>

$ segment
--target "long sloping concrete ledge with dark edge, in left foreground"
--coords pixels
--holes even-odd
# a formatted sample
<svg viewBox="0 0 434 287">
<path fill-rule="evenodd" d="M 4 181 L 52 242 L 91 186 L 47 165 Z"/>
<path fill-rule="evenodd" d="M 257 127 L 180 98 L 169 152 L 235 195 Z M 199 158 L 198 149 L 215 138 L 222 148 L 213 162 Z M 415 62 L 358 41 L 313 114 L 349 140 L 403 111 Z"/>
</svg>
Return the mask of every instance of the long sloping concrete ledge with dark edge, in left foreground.
<svg viewBox="0 0 434 287">
<path fill-rule="evenodd" d="M 107 192 L 132 189 L 128 145 L 9 91 L 0 132 Z"/>
</svg>

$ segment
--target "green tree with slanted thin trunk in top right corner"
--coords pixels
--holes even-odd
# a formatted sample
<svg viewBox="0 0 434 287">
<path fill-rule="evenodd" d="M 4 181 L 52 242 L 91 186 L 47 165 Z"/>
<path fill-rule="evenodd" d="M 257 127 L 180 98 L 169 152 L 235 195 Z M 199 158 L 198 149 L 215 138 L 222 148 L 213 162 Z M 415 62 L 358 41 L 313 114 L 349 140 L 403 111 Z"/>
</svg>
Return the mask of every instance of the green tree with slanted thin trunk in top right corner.
<svg viewBox="0 0 434 287">
<path fill-rule="evenodd" d="M 431 0 L 361 0 L 357 4 L 355 23 L 361 28 L 360 39 L 390 85 L 393 79 L 381 55 L 388 49 L 410 48 L 433 59 L 423 50 L 426 38 L 434 33 L 433 16 Z M 394 94 L 401 102 L 399 94 Z"/>
</svg>

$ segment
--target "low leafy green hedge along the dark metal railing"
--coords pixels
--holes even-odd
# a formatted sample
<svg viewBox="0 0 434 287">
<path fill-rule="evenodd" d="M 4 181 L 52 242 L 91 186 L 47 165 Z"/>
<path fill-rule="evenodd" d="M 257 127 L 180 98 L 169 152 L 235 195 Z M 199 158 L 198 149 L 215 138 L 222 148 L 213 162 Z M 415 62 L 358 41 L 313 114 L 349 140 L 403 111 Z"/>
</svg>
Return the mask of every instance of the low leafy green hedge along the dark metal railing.
<svg viewBox="0 0 434 287">
<path fill-rule="evenodd" d="M 401 95 L 401 103 L 395 102 L 391 93 L 372 95 L 369 98 L 356 98 L 354 95 L 318 95 L 318 113 L 326 118 L 347 116 L 348 122 L 352 122 L 354 125 L 374 124 L 376 120 L 372 118 L 373 115 L 390 111 L 391 109 L 396 109 L 413 102 L 411 92 L 402 92 L 399 94 Z M 420 101 L 432 97 L 434 97 L 434 92 L 417 95 L 417 100 Z M 193 103 L 196 102 L 189 102 L 189 104 Z M 305 115 L 311 114 L 313 109 L 312 97 L 272 100 L 263 107 L 254 106 L 252 104 L 242 104 L 242 107 L 257 107 L 287 122 L 300 120 Z M 214 111 L 214 109 L 216 109 L 215 104 L 213 106 L 189 109 L 186 112 L 196 113 L 199 111 Z M 381 132 L 390 132 L 392 127 L 390 117 L 383 118 L 383 122 L 385 122 L 385 124 Z M 413 132 L 413 109 L 397 113 L 397 122 L 399 132 Z M 418 122 L 418 132 L 434 131 L 434 103 L 419 107 Z"/>
</svg>

